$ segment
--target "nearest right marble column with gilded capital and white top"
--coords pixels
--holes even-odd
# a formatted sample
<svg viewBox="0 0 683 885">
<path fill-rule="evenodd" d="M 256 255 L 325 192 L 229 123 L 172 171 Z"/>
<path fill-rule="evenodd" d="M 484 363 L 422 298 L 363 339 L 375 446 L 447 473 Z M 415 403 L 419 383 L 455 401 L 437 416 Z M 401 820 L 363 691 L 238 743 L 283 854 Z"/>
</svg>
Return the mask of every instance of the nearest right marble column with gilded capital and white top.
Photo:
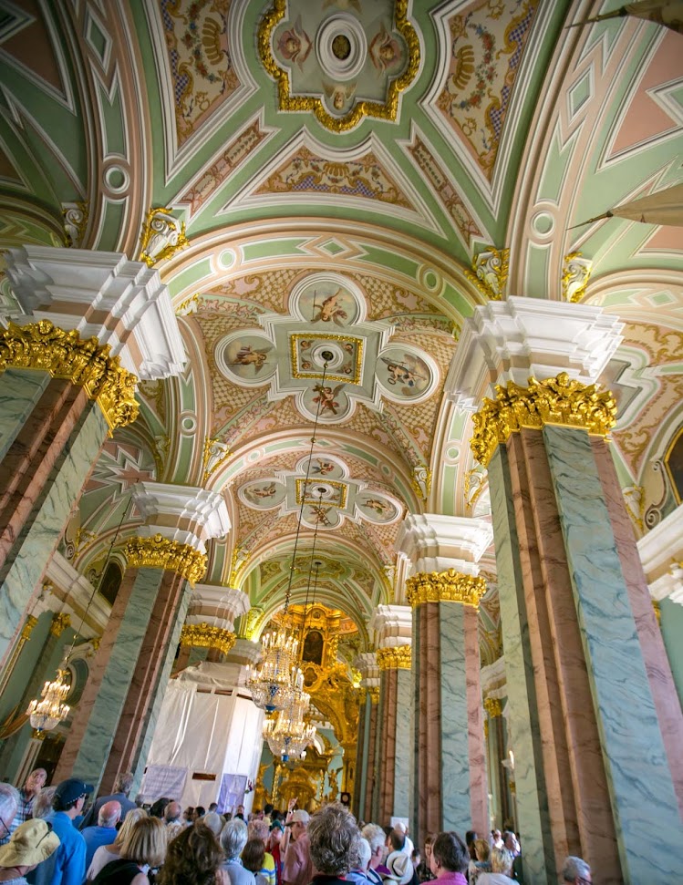
<svg viewBox="0 0 683 885">
<path fill-rule="evenodd" d="M 573 308 L 478 308 L 450 378 L 463 405 L 493 393 L 471 448 L 489 471 L 524 880 L 554 881 L 574 854 L 605 883 L 667 881 L 683 827 L 619 552 L 624 504 L 591 442 L 615 422 L 594 383 L 618 324 Z"/>
</svg>

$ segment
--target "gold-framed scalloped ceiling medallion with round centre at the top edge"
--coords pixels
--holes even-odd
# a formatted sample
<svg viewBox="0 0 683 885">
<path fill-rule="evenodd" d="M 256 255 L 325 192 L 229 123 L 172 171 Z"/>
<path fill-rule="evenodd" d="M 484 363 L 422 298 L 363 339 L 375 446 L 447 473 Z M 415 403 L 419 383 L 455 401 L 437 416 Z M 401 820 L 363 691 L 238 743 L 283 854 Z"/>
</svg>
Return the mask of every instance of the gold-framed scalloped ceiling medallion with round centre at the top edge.
<svg viewBox="0 0 683 885">
<path fill-rule="evenodd" d="M 408 0 L 371 7 L 349 0 L 343 12 L 328 7 L 274 0 L 264 15 L 258 51 L 277 83 L 278 107 L 313 111 L 333 132 L 353 129 L 366 117 L 396 120 L 399 94 L 419 68 Z"/>
</svg>

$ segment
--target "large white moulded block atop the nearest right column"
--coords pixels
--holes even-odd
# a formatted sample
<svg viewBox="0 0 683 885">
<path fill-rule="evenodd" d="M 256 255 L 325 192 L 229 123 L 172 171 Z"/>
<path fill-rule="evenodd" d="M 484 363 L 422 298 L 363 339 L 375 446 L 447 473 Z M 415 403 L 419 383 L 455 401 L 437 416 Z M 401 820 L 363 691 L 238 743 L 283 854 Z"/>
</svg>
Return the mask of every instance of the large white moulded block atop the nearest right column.
<svg viewBox="0 0 683 885">
<path fill-rule="evenodd" d="M 446 395 L 463 409 L 479 407 L 494 386 L 527 386 L 566 372 L 594 384 L 621 343 L 620 323 L 591 304 L 511 296 L 476 307 L 463 324 L 446 379 Z"/>
</svg>

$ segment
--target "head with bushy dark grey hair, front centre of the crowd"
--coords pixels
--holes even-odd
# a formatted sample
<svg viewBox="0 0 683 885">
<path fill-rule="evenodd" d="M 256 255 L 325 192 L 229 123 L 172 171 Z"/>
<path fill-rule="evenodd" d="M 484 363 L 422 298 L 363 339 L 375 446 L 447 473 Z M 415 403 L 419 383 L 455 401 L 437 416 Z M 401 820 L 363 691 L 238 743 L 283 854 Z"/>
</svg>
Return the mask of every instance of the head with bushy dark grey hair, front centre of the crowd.
<svg viewBox="0 0 683 885">
<path fill-rule="evenodd" d="M 357 866 L 360 838 L 356 818 L 337 803 L 323 806 L 308 822 L 311 860 L 326 876 L 345 876 Z"/>
</svg>

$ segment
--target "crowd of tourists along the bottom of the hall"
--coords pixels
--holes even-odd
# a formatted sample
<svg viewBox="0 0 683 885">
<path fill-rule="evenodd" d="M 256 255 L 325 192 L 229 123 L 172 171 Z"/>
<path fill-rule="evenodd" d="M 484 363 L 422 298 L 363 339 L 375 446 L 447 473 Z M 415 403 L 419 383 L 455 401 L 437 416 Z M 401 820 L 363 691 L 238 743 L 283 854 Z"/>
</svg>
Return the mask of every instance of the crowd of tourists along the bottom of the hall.
<svg viewBox="0 0 683 885">
<path fill-rule="evenodd" d="M 487 838 L 441 832 L 415 848 L 405 824 L 357 821 L 330 803 L 313 815 L 289 802 L 246 819 L 243 806 L 186 808 L 129 799 L 132 776 L 84 813 L 93 789 L 78 778 L 45 787 L 38 768 L 20 789 L 0 784 L 0 883 L 13 885 L 508 885 L 523 881 L 512 830 Z M 591 870 L 567 858 L 558 875 L 590 885 Z"/>
</svg>

